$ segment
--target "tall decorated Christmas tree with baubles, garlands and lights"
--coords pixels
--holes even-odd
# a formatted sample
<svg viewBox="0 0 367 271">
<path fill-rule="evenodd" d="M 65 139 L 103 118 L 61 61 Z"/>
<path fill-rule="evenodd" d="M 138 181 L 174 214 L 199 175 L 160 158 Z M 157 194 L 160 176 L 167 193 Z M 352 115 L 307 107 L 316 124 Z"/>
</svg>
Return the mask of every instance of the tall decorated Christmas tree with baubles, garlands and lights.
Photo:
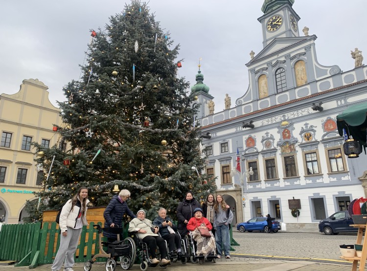
<svg viewBox="0 0 367 271">
<path fill-rule="evenodd" d="M 81 79 L 64 87 L 68 101 L 59 102 L 59 144 L 36 145 L 45 154 L 37 159 L 45 174 L 40 200 L 27 203 L 28 221 L 61 207 L 81 186 L 94 206 L 107 206 L 115 185 L 128 189 L 129 207 L 147 210 L 147 217 L 160 207 L 175 217 L 187 191 L 203 201 L 214 190 L 199 174 L 205 160 L 195 97 L 178 77 L 182 60 L 173 43 L 138 0 L 106 29 L 92 31 Z"/>
</svg>

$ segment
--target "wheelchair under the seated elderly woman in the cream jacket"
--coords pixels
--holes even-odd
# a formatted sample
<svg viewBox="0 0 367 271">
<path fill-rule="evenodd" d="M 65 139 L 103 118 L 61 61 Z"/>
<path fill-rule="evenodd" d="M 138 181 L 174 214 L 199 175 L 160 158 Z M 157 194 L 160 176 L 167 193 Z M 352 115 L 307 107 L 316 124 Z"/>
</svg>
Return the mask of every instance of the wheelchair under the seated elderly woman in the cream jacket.
<svg viewBox="0 0 367 271">
<path fill-rule="evenodd" d="M 142 241 L 142 239 L 140 239 L 137 235 L 136 231 L 133 232 L 129 232 L 130 234 L 130 239 L 132 239 L 135 242 L 136 245 L 136 255 L 138 256 L 139 260 L 140 260 L 140 270 L 141 271 L 146 271 L 148 269 L 148 267 L 156 267 L 158 265 L 157 264 L 153 264 L 151 262 L 151 258 L 149 255 L 149 250 L 148 250 L 148 244 L 144 243 Z M 159 251 L 159 248 L 156 248 L 157 250 L 157 259 L 161 260 L 161 252 Z M 168 254 L 167 254 L 168 255 Z M 166 268 L 168 264 L 166 265 L 161 265 L 161 268 Z"/>
</svg>

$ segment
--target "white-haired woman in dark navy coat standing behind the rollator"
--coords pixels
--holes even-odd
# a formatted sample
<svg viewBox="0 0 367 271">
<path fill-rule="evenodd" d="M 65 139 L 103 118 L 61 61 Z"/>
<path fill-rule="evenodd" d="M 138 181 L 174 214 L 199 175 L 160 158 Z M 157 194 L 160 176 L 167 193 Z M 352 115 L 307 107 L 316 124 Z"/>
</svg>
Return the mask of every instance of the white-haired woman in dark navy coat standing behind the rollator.
<svg viewBox="0 0 367 271">
<path fill-rule="evenodd" d="M 131 218 L 136 218 L 136 215 L 129 209 L 126 200 L 130 198 L 129 190 L 122 189 L 118 195 L 113 196 L 107 208 L 103 212 L 105 218 L 105 228 L 114 228 L 117 225 L 122 227 L 122 216 L 127 213 Z M 108 242 L 117 240 L 117 234 L 109 232 L 108 229 L 103 231 L 103 236 L 107 237 Z M 121 240 L 120 236 L 120 240 Z"/>
</svg>

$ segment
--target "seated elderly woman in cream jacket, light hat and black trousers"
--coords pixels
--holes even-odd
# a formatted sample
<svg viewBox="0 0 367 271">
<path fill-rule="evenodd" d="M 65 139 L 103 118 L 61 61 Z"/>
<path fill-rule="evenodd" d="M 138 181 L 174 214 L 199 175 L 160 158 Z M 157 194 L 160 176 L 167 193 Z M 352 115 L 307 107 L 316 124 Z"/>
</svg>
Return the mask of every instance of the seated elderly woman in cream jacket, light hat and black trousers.
<svg viewBox="0 0 367 271">
<path fill-rule="evenodd" d="M 157 264 L 160 263 L 156 254 L 157 246 L 161 253 L 161 266 L 167 266 L 171 261 L 166 259 L 167 250 L 164 239 L 157 234 L 159 227 L 154 226 L 152 221 L 145 218 L 144 210 L 139 210 L 137 216 L 138 218 L 134 218 L 130 221 L 129 232 L 135 232 L 138 238 L 148 245 L 148 252 L 152 258 L 150 259 L 150 266 L 157 266 Z"/>
</svg>

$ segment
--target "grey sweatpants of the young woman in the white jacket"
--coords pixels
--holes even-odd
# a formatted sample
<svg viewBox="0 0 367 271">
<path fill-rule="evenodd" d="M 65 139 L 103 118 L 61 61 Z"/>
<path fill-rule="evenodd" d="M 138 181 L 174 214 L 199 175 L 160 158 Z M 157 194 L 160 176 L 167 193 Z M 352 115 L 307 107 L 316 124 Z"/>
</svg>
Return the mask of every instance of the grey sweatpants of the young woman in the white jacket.
<svg viewBox="0 0 367 271">
<path fill-rule="evenodd" d="M 68 227 L 68 235 L 64 236 L 61 233 L 60 247 L 57 250 L 55 260 L 51 267 L 52 270 L 60 270 L 64 263 L 64 268 L 70 268 L 74 265 L 74 254 L 78 247 L 79 237 L 82 229 L 73 229 Z M 65 261 L 65 262 L 64 262 Z"/>
</svg>

